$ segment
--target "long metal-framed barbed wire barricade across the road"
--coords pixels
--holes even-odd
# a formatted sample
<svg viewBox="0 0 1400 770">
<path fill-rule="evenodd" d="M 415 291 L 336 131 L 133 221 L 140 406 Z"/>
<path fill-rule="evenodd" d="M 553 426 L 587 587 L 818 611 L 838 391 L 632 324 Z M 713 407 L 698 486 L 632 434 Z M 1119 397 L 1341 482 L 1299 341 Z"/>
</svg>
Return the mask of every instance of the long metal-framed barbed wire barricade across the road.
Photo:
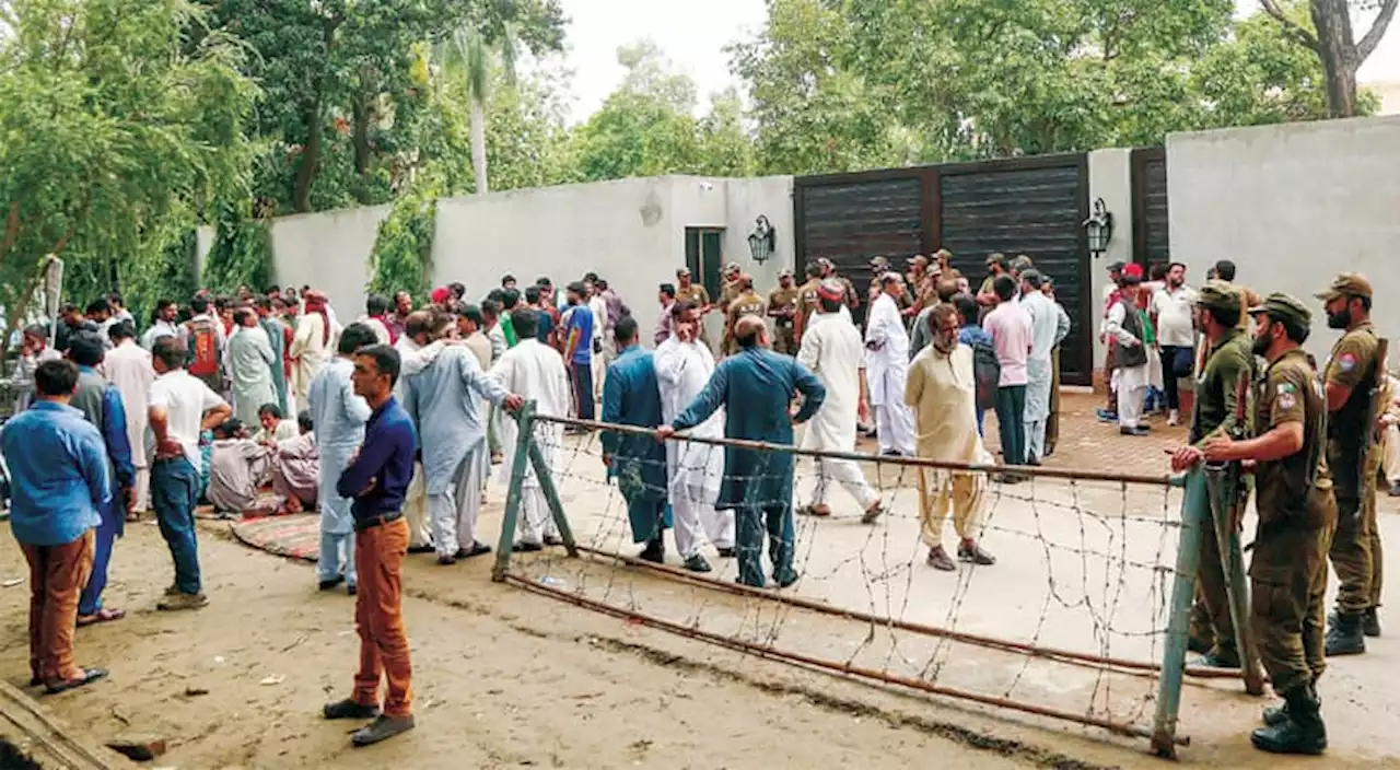
<svg viewBox="0 0 1400 770">
<path fill-rule="evenodd" d="M 1176 734 L 1183 675 L 1240 676 L 1184 666 L 1197 543 L 1208 528 L 1201 514 L 1187 512 L 1190 505 L 1173 512 L 1165 476 L 693 440 L 717 452 L 762 452 L 764 470 L 741 480 L 748 490 L 771 490 L 764 482 L 784 477 L 780 459 L 792 458 L 799 510 L 816 482 L 813 458 L 860 461 L 881 498 L 885 514 L 872 524 L 841 493 L 829 496 L 834 515 L 797 515 L 797 582 L 752 588 L 735 581 L 735 560 L 718 559 L 713 546 L 703 554 L 714 571 L 704 574 L 687 571 L 673 553 L 665 564 L 637 557 L 641 546 L 633 543 L 627 500 L 609 479 L 601 437 L 650 430 L 535 414 L 533 405 L 518 419 L 498 581 L 759 658 L 1149 738 L 1162 755 L 1187 742 Z M 561 438 L 566 426 L 580 435 Z M 995 564 L 965 560 L 955 571 L 925 564 L 921 473 L 970 475 L 984 484 L 976 542 Z M 1009 475 L 1023 480 L 1012 483 Z M 1205 494 L 1200 476 L 1187 479 L 1197 501 Z M 636 479 L 630 483 L 629 490 L 638 489 Z M 561 549 L 514 553 L 517 524 L 532 515 L 531 496 L 547 503 Z M 749 497 L 746 504 L 787 504 Z M 946 529 L 945 542 L 958 543 Z M 767 556 L 766 533 L 762 547 Z M 771 571 L 767 559 L 763 564 Z"/>
</svg>

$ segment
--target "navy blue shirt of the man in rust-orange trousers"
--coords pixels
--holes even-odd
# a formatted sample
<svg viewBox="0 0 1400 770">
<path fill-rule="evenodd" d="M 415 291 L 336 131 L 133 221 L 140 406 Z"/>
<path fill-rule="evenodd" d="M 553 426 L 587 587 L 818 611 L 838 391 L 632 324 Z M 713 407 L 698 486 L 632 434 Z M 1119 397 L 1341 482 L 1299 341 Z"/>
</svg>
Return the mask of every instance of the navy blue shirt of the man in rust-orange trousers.
<svg viewBox="0 0 1400 770">
<path fill-rule="evenodd" d="M 350 512 L 356 521 L 391 514 L 403 508 L 409 482 L 413 480 L 413 447 L 416 444 L 413 421 L 399 406 L 399 399 L 379 405 L 364 424 L 364 444 L 354 462 L 340 473 L 336 493 L 350 497 L 354 503 Z M 374 487 L 364 494 L 360 490 Z"/>
</svg>

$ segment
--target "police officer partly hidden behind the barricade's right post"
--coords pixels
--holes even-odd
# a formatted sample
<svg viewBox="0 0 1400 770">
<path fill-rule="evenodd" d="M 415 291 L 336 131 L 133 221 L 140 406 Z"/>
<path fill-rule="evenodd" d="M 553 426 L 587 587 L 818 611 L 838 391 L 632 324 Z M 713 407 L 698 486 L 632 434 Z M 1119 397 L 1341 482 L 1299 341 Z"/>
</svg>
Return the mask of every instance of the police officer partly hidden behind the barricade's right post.
<svg viewBox="0 0 1400 770">
<path fill-rule="evenodd" d="M 1236 435 L 1245 431 L 1243 389 L 1253 379 L 1254 356 L 1243 319 L 1242 293 L 1224 281 L 1210 281 L 1196 300 L 1196 328 L 1205 335 L 1205 360 L 1196 381 L 1196 412 L 1191 417 L 1189 445 L 1172 455 L 1172 470 L 1186 470 L 1201 459 L 1201 447 L 1217 433 Z M 1246 398 L 1247 402 L 1247 398 Z M 1247 433 L 1247 431 L 1245 431 Z M 1225 591 L 1219 543 L 1214 531 L 1201 538 L 1196 605 L 1191 608 L 1190 647 L 1204 652 L 1196 665 L 1239 668 L 1235 623 Z"/>
</svg>

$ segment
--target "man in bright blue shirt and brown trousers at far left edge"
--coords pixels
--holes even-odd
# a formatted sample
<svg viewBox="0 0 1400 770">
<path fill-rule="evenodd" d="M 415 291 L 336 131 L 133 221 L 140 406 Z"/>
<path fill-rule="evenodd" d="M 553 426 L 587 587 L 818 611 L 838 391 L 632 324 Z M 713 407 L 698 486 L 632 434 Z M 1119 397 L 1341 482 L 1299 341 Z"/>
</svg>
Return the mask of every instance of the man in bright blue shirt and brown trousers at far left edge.
<svg viewBox="0 0 1400 770">
<path fill-rule="evenodd" d="M 10 528 L 29 563 L 29 683 L 62 693 L 106 676 L 73 662 L 73 637 L 92 528 L 112 484 L 102 434 L 69 406 L 77 367 L 45 361 L 34 381 L 38 400 L 0 430 L 0 452 L 10 469 Z"/>
</svg>

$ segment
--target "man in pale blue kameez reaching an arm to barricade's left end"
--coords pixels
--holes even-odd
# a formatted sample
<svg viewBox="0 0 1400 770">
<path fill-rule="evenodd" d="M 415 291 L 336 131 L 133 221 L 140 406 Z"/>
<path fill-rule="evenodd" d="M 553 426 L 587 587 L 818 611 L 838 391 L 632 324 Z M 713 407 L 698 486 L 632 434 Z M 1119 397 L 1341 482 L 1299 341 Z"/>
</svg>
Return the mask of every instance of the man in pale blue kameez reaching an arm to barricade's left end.
<svg viewBox="0 0 1400 770">
<path fill-rule="evenodd" d="M 434 319 L 430 336 L 437 342 L 455 333 L 456 322 L 444 315 Z M 438 564 L 490 553 L 491 547 L 476 539 L 482 486 L 491 469 L 482 400 L 507 409 L 518 409 L 522 400 L 487 377 L 462 344 L 441 347 L 430 364 L 405 379 L 405 407 L 423 451 Z"/>
</svg>

